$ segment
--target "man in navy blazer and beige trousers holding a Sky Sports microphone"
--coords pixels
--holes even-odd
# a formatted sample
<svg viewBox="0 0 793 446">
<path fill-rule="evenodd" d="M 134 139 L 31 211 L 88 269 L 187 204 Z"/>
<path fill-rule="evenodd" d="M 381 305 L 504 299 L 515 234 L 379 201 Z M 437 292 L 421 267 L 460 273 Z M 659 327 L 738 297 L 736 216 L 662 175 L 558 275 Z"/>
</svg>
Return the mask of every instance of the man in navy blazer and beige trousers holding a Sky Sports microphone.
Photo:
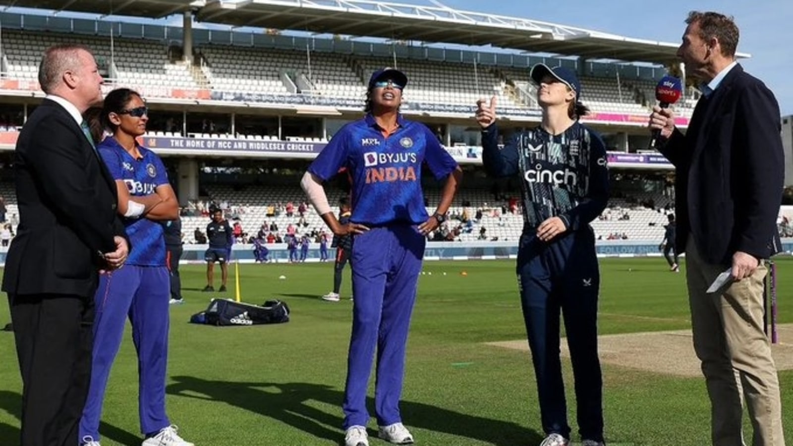
<svg viewBox="0 0 793 446">
<path fill-rule="evenodd" d="M 691 12 L 677 56 L 703 97 L 684 135 L 656 107 L 649 126 L 676 167 L 676 247 L 686 252 L 694 350 L 711 397 L 715 445 L 741 445 L 741 397 L 754 446 L 784 444 L 780 386 L 763 331 L 764 260 L 780 251 L 784 157 L 780 109 L 735 61 L 732 17 Z M 722 271 L 730 282 L 707 288 Z"/>
</svg>

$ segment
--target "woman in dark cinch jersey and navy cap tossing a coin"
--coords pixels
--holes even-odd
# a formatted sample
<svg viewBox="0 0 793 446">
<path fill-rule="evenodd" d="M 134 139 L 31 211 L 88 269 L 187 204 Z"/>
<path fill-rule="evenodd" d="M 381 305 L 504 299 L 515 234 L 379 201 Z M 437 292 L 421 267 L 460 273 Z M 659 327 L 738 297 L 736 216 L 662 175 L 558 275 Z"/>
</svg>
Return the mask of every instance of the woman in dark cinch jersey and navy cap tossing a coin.
<svg viewBox="0 0 793 446">
<path fill-rule="evenodd" d="M 565 387 L 559 359 L 559 313 L 573 362 L 577 421 L 584 446 L 603 445 L 603 379 L 597 352 L 600 272 L 589 222 L 606 207 L 608 170 L 600 136 L 580 124 L 575 73 L 565 67 L 531 69 L 542 123 L 515 134 L 499 150 L 496 99 L 478 102 L 482 160 L 494 176 L 519 175 L 523 234 L 517 275 L 523 318 L 537 379 L 541 446 L 566 446 L 570 439 Z"/>
</svg>

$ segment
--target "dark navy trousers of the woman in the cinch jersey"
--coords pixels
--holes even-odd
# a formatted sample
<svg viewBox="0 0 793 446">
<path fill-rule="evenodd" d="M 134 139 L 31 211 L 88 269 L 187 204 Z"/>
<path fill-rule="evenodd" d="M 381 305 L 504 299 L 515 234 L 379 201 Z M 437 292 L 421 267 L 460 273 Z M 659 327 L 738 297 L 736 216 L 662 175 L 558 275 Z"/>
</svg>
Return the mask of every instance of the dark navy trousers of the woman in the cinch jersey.
<svg viewBox="0 0 793 446">
<path fill-rule="evenodd" d="M 573 363 L 582 439 L 603 441 L 603 379 L 597 349 L 600 271 L 592 229 L 545 243 L 520 237 L 517 274 L 523 318 L 537 379 L 542 429 L 570 436 L 559 358 L 559 313 Z"/>
</svg>

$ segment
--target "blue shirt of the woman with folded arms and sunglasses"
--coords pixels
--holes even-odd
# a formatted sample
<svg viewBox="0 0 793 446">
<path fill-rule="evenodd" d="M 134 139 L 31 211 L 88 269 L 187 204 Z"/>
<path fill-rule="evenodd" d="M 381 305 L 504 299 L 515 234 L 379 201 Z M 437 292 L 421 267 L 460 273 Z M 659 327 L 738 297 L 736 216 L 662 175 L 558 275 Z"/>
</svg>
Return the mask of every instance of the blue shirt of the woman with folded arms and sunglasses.
<svg viewBox="0 0 793 446">
<path fill-rule="evenodd" d="M 136 160 L 112 136 L 97 146 L 99 156 L 105 161 L 113 179 L 127 185 L 130 197 L 143 197 L 155 193 L 158 186 L 168 184 L 168 175 L 163 162 L 155 152 L 138 146 L 140 160 Z M 165 239 L 163 225 L 148 218 L 123 218 L 132 243 L 127 263 L 141 267 L 165 266 Z"/>
</svg>

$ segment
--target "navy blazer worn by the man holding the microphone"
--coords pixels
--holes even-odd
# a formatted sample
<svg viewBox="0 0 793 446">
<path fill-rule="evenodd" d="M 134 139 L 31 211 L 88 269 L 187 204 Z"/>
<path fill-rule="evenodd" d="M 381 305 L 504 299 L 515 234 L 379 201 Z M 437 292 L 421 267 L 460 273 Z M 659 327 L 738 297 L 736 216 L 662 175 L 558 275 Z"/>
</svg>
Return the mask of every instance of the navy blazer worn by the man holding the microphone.
<svg viewBox="0 0 793 446">
<path fill-rule="evenodd" d="M 784 186 L 780 107 L 759 79 L 736 65 L 700 98 L 686 134 L 675 129 L 660 150 L 676 171 L 676 247 L 694 237 L 708 263 L 741 251 L 768 259 Z"/>
</svg>

